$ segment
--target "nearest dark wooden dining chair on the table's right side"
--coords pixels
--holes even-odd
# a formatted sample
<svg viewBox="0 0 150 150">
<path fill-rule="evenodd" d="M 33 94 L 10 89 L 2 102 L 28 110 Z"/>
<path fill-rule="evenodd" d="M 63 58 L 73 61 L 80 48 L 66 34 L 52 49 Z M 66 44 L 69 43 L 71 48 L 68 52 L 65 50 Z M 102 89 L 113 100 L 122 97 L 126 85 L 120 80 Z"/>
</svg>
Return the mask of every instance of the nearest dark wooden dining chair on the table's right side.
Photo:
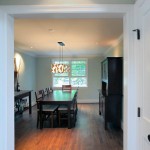
<svg viewBox="0 0 150 150">
<path fill-rule="evenodd" d="M 72 115 L 73 124 L 75 126 L 75 122 L 77 120 L 77 94 L 75 94 L 73 98 L 73 104 L 70 107 L 70 114 Z M 68 120 L 68 106 L 62 105 L 58 108 L 58 120 L 59 120 L 59 126 L 61 126 L 62 120 Z"/>
</svg>

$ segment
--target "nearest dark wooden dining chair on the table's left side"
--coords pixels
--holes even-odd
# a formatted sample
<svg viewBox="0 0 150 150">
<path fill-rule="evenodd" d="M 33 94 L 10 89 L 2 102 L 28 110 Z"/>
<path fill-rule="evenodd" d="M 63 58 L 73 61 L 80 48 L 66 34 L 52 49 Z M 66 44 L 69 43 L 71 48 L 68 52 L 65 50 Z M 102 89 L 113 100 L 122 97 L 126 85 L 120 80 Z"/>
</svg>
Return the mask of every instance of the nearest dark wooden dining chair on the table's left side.
<svg viewBox="0 0 150 150">
<path fill-rule="evenodd" d="M 49 117 L 51 118 L 51 128 L 53 128 L 54 124 L 54 113 L 58 108 L 58 105 L 42 105 L 42 118 L 40 118 L 40 102 L 38 101 L 39 99 L 44 98 L 44 90 L 39 90 L 35 92 L 35 97 L 36 97 L 36 102 L 37 102 L 37 128 L 39 125 L 40 120 L 42 119 L 42 126 L 44 120 L 47 120 Z"/>
</svg>

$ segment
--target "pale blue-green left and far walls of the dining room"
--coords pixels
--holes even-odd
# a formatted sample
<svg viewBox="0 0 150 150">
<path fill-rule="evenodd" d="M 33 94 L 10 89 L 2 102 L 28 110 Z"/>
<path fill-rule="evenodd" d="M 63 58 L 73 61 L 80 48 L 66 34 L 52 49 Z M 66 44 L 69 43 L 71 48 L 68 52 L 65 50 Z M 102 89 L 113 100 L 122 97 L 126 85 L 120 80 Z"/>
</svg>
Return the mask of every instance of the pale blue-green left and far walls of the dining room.
<svg viewBox="0 0 150 150">
<path fill-rule="evenodd" d="M 35 103 L 34 92 L 52 86 L 51 59 L 48 57 L 35 58 L 20 53 L 22 68 L 19 75 L 20 88 L 33 90 L 32 103 Z M 79 88 L 79 102 L 98 102 L 98 89 L 101 84 L 100 57 L 88 58 L 88 87 Z"/>
</svg>

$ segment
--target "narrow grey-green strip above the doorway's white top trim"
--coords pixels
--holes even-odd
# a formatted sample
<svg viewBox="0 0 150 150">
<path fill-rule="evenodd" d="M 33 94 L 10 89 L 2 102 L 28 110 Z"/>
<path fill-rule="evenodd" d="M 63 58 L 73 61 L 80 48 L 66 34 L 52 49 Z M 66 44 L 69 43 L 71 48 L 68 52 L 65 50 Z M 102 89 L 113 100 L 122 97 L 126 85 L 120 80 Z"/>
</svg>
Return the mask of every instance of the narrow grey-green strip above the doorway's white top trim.
<svg viewBox="0 0 150 150">
<path fill-rule="evenodd" d="M 0 5 L 133 4 L 136 0 L 0 0 Z"/>
</svg>

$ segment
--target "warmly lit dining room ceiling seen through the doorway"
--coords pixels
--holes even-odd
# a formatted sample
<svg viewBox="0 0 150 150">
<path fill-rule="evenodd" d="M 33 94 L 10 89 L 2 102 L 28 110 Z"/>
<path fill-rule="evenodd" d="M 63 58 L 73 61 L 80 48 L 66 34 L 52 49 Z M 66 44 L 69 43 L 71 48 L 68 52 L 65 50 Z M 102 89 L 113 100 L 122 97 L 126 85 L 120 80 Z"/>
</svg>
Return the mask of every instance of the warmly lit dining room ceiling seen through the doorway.
<svg viewBox="0 0 150 150">
<path fill-rule="evenodd" d="M 15 48 L 35 56 L 100 56 L 123 33 L 121 18 L 15 19 Z"/>
</svg>

